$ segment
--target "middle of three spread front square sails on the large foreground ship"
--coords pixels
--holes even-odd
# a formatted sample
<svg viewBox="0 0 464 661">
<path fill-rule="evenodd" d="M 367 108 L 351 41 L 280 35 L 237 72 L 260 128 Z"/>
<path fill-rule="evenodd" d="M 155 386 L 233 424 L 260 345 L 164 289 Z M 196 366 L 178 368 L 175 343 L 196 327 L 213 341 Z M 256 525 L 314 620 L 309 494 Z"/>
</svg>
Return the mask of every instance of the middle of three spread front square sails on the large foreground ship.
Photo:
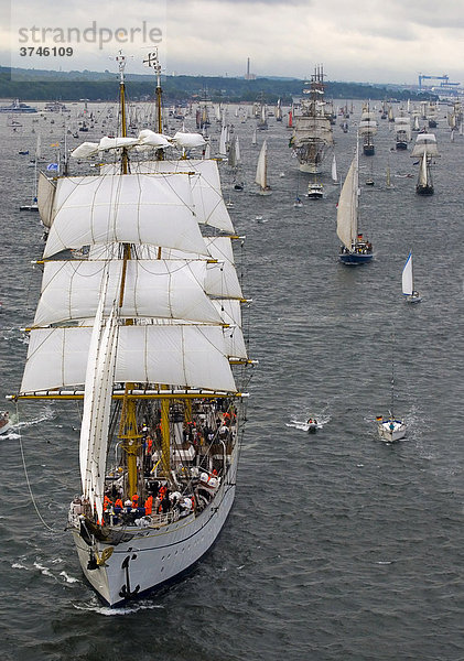
<svg viewBox="0 0 464 661">
<path fill-rule="evenodd" d="M 122 266 L 122 260 L 117 259 L 111 260 L 107 268 L 105 262 L 94 260 L 46 262 L 34 325 L 93 318 L 100 297 L 101 279 L 107 270 L 109 282 L 105 314 L 108 315 L 119 295 Z M 128 261 L 119 316 L 220 323 L 220 316 L 204 293 L 206 270 L 205 261 Z"/>
</svg>

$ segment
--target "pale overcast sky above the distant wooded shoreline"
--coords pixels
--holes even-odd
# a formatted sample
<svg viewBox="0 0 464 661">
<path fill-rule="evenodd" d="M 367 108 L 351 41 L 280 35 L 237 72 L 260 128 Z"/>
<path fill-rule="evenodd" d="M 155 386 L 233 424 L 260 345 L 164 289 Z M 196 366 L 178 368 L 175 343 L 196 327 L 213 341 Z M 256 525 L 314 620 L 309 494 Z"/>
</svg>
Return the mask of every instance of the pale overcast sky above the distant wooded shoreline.
<svg viewBox="0 0 464 661">
<path fill-rule="evenodd" d="M 6 13 L 0 25 L 1 64 L 11 54 L 22 67 L 114 71 L 110 55 L 122 46 L 133 55 L 127 71 L 144 73 L 141 59 L 158 29 L 166 73 L 244 75 L 250 57 L 258 76 L 305 77 L 323 63 L 330 80 L 410 84 L 419 73 L 464 79 L 462 0 L 12 0 L 10 21 Z M 46 43 L 32 28 L 48 29 Z M 127 31 L 120 41 L 118 28 Z M 87 41 L 69 41 L 68 29 L 89 30 Z M 41 45 L 72 46 L 73 55 L 20 55 L 20 47 Z"/>
</svg>

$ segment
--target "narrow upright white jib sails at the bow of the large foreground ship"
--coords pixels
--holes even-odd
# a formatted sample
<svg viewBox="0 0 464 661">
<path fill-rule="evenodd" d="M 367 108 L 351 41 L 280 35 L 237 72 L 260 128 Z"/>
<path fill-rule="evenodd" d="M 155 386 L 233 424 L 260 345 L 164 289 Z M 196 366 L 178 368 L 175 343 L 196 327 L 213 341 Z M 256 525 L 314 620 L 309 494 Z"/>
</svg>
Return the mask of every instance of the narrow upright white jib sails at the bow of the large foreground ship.
<svg viewBox="0 0 464 661">
<path fill-rule="evenodd" d="M 104 284 L 104 292 L 105 289 Z M 96 507 L 98 520 L 102 520 L 105 463 L 117 337 L 115 307 L 104 323 L 104 301 L 105 294 L 98 306 L 90 337 L 79 441 L 83 494 L 90 506 Z"/>
</svg>

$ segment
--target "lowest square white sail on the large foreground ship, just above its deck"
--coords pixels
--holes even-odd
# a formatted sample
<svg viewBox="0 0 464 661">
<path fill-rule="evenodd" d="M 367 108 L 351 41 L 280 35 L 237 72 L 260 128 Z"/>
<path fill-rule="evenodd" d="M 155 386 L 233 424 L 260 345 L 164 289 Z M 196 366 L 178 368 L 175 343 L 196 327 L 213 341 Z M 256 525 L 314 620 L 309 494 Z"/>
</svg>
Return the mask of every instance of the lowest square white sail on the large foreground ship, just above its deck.
<svg viewBox="0 0 464 661">
<path fill-rule="evenodd" d="M 85 382 L 91 328 L 31 330 L 21 393 Z M 118 326 L 115 382 L 236 392 L 220 326 Z"/>
</svg>

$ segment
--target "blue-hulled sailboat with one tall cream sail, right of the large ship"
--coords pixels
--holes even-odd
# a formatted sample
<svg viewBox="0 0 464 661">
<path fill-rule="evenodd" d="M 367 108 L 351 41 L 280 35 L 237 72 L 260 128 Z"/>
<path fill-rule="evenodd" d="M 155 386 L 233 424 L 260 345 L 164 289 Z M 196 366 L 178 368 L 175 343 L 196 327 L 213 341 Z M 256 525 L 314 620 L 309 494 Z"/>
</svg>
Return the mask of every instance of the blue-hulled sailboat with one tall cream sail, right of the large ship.
<svg viewBox="0 0 464 661">
<path fill-rule="evenodd" d="M 345 264 L 363 264 L 373 259 L 373 246 L 358 229 L 359 194 L 359 149 L 356 144 L 337 207 L 337 236 L 343 243 L 339 260 Z"/>
</svg>

